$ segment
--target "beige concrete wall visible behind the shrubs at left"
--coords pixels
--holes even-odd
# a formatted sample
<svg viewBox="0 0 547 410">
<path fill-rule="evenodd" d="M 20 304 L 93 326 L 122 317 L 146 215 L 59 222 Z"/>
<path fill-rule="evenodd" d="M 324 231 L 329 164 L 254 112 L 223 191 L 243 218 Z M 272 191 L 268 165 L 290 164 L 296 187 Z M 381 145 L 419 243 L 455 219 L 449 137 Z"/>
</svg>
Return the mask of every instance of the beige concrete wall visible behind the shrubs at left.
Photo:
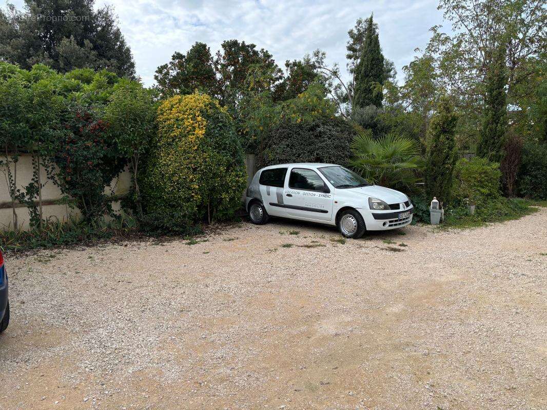
<svg viewBox="0 0 547 410">
<path fill-rule="evenodd" d="M 0 156 L 0 161 L 5 161 L 5 156 Z M 10 165 L 11 172 L 15 170 L 14 164 Z M 52 201 L 59 201 L 63 197 L 61 191 L 49 180 L 45 169 L 40 169 L 40 178 L 42 183 L 45 183 L 42 188 L 42 201 L 48 203 L 42 207 L 44 218 L 53 220 L 67 221 L 71 215 L 77 216 L 79 210 L 71 209 L 66 205 L 51 204 Z M 32 180 L 32 156 L 30 154 L 22 154 L 17 163 L 17 186 L 20 190 Z M 131 173 L 127 169 L 115 178 L 106 190 L 106 195 L 124 195 L 127 194 L 131 185 Z M 119 210 L 119 201 L 113 203 L 114 210 Z M 27 230 L 30 216 L 28 208 L 19 204 L 15 208 L 18 215 L 19 229 Z M 13 229 L 13 210 L 11 209 L 11 199 L 9 197 L 9 189 L 6 177 L 3 172 L 0 172 L 0 230 Z"/>
</svg>

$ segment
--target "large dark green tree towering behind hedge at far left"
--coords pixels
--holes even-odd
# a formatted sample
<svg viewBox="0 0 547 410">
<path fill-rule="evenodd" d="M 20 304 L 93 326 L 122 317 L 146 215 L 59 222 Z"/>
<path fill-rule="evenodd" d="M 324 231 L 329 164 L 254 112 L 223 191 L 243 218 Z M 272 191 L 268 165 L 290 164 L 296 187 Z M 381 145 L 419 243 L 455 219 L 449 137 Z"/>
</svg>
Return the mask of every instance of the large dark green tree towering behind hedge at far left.
<svg viewBox="0 0 547 410">
<path fill-rule="evenodd" d="M 0 9 L 0 55 L 30 69 L 89 67 L 135 77 L 135 62 L 112 8 L 94 0 L 25 0 L 24 11 Z"/>
</svg>

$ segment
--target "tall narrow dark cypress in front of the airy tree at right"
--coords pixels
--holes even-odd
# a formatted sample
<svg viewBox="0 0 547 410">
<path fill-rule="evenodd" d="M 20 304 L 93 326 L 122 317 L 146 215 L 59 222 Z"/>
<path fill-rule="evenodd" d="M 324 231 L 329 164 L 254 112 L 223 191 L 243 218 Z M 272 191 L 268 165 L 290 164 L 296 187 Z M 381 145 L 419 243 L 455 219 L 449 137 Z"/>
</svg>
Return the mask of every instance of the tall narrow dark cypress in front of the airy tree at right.
<svg viewBox="0 0 547 410">
<path fill-rule="evenodd" d="M 499 46 L 493 52 L 492 63 L 486 73 L 485 108 L 477 144 L 477 155 L 494 162 L 501 162 L 505 156 L 505 131 L 507 130 L 505 53 L 505 46 Z"/>
</svg>

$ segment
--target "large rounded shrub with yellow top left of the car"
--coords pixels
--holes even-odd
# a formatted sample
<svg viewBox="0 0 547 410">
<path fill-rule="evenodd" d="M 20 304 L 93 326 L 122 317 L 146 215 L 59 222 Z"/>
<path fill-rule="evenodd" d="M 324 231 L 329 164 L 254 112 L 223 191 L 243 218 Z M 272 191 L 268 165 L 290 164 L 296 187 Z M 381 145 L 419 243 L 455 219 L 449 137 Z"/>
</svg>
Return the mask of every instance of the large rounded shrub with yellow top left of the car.
<svg viewBox="0 0 547 410">
<path fill-rule="evenodd" d="M 231 218 L 247 173 L 230 115 L 196 92 L 166 99 L 157 121 L 142 181 L 147 212 L 183 213 L 189 222 Z"/>
</svg>

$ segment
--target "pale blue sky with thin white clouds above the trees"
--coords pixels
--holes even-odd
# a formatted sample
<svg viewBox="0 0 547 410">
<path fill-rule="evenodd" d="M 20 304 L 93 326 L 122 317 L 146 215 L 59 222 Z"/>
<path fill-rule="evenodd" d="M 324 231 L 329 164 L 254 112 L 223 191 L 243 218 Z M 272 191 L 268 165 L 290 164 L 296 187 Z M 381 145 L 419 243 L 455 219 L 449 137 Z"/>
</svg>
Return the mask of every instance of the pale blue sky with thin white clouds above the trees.
<svg viewBox="0 0 547 410">
<path fill-rule="evenodd" d="M 5 1 L 5 0 L 4 0 Z M 23 0 L 11 0 L 18 8 Z M 220 43 L 236 38 L 274 55 L 278 65 L 319 48 L 328 62 L 345 69 L 347 31 L 358 17 L 374 13 L 380 26 L 383 54 L 401 68 L 423 48 L 429 28 L 441 24 L 437 0 L 96 0 L 112 4 L 145 85 L 154 83 L 156 68 L 174 51 L 187 51 L 196 41 L 214 54 Z"/>
</svg>

